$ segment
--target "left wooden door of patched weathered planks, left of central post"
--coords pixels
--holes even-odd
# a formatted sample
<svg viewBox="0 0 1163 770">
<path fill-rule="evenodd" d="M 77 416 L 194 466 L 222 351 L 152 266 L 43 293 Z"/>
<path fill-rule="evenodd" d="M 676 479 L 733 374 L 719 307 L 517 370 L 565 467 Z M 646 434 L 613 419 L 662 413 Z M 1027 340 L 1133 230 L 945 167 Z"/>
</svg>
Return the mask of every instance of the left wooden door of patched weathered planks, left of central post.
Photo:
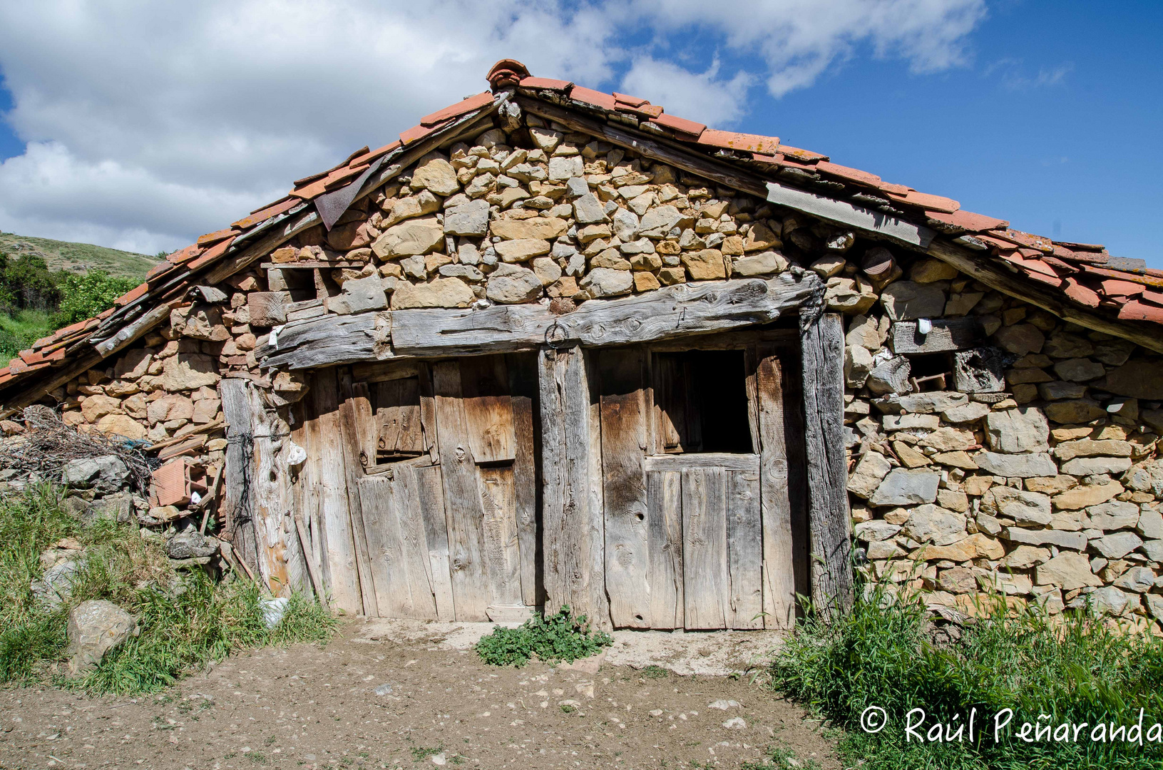
<svg viewBox="0 0 1163 770">
<path fill-rule="evenodd" d="M 342 511 L 320 511 L 327 550 L 347 543 L 324 557 L 341 606 L 487 621 L 543 601 L 533 355 L 356 365 L 324 370 L 320 383 L 338 385 L 336 405 L 316 401 L 331 406 L 341 435 L 302 435 L 308 478 L 345 493 Z"/>
</svg>

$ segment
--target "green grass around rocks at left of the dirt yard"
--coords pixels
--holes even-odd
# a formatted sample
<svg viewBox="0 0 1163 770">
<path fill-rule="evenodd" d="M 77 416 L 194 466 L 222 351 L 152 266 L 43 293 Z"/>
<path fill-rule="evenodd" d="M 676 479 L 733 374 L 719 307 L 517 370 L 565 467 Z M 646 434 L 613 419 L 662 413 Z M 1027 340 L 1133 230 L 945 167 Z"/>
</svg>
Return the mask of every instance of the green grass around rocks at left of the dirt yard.
<svg viewBox="0 0 1163 770">
<path fill-rule="evenodd" d="M 92 693 L 154 692 L 211 661 L 265 644 L 326 641 L 335 621 L 302 596 L 283 621 L 263 623 L 258 589 L 213 582 L 200 570 L 176 572 L 162 546 L 134 526 L 109 520 L 81 527 L 62 508 L 62 491 L 30 489 L 0 497 L 0 683 L 48 683 Z M 70 600 L 55 611 L 34 601 L 40 554 L 60 537 L 85 546 L 85 566 Z M 133 614 L 141 633 L 80 679 L 65 679 L 69 611 L 106 599 Z"/>
</svg>

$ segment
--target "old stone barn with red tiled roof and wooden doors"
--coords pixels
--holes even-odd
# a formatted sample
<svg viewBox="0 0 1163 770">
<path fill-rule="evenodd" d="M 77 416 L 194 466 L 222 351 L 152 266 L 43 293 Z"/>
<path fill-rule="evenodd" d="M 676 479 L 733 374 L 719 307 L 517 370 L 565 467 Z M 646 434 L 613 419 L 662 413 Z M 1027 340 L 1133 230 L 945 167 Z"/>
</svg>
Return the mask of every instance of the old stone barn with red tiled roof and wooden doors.
<svg viewBox="0 0 1163 770">
<path fill-rule="evenodd" d="M 3 415 L 152 442 L 145 523 L 221 476 L 234 552 L 352 613 L 786 627 L 855 568 L 1158 632 L 1163 272 L 487 79 L 22 351 Z"/>
</svg>

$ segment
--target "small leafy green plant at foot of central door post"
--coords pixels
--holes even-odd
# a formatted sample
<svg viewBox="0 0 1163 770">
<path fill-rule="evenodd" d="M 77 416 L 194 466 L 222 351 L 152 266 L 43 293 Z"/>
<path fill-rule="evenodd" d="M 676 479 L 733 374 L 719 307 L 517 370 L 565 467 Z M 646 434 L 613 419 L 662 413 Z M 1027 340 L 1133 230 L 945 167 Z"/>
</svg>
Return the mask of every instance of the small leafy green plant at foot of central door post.
<svg viewBox="0 0 1163 770">
<path fill-rule="evenodd" d="M 480 660 L 490 665 L 522 666 L 534 656 L 545 663 L 590 657 L 614 643 L 609 634 L 590 630 L 585 615 L 575 618 L 568 606 L 557 614 L 534 615 L 519 628 L 498 626 L 477 642 Z"/>
</svg>

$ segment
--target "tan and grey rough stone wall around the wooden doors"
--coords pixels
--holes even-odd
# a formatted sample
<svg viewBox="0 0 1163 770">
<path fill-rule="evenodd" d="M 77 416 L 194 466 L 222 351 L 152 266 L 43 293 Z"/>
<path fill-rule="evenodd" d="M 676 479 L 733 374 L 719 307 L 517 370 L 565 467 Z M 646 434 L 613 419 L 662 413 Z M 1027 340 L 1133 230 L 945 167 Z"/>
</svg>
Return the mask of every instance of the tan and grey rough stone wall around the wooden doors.
<svg viewBox="0 0 1163 770">
<path fill-rule="evenodd" d="M 1143 625 L 1163 618 L 1160 356 L 944 263 L 534 116 L 505 120 L 424 156 L 330 231 L 193 292 L 142 343 L 53 393 L 65 419 L 188 437 L 213 471 L 226 441 L 205 427 L 221 420 L 221 377 L 254 379 L 276 407 L 302 395 L 300 378 L 262 372 L 255 356 L 287 320 L 521 302 L 568 313 L 684 281 L 814 270 L 848 319 L 863 569 L 965 611 L 997 590 L 1050 612 L 1091 600 Z M 944 347 L 932 343 L 942 319 L 955 327 Z M 899 350 L 909 322 L 932 321 L 905 345 L 916 352 Z M 936 391 L 923 379 L 942 373 Z"/>
</svg>

